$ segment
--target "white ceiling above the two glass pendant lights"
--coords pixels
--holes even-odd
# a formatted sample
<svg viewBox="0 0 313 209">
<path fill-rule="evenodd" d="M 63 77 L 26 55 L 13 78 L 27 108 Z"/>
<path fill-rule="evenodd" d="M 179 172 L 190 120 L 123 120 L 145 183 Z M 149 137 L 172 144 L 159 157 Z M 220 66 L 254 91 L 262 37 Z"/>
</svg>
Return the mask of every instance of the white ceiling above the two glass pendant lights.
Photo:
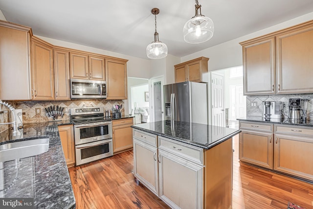
<svg viewBox="0 0 313 209">
<path fill-rule="evenodd" d="M 195 15 L 194 0 L 0 0 L 7 21 L 35 35 L 148 59 L 156 16 L 159 40 L 182 57 L 313 11 L 313 0 L 199 0 L 214 22 L 213 38 L 185 43 L 182 28 Z"/>
</svg>

